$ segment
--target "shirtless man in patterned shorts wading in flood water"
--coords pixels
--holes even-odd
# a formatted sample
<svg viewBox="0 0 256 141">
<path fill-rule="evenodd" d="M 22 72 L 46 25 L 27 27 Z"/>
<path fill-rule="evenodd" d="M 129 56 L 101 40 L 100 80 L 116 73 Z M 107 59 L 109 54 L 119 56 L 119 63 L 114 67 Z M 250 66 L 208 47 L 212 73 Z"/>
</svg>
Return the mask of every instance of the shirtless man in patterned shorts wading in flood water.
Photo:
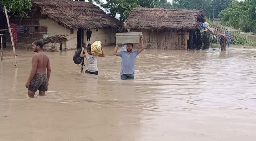
<svg viewBox="0 0 256 141">
<path fill-rule="evenodd" d="M 26 83 L 29 97 L 34 97 L 37 90 L 39 90 L 39 95 L 45 95 L 51 75 L 49 57 L 42 50 L 43 42 L 35 41 L 32 45 L 33 51 L 36 53 L 32 57 L 32 70 Z M 45 68 L 47 68 L 47 74 Z"/>
</svg>

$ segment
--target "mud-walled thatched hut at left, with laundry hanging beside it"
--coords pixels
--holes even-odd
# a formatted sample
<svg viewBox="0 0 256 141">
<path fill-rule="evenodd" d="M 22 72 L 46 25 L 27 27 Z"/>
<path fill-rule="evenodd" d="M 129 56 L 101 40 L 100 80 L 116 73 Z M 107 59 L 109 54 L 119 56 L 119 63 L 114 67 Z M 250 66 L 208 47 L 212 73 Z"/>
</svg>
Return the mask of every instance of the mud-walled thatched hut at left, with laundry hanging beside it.
<svg viewBox="0 0 256 141">
<path fill-rule="evenodd" d="M 46 49 L 53 50 L 81 48 L 96 40 L 106 46 L 115 44 L 115 33 L 122 26 L 120 21 L 91 2 L 31 1 L 33 7 L 28 17 L 11 17 L 10 22 L 17 29 L 17 47 L 27 47 L 34 40 L 43 38 Z M 9 38 L 8 34 L 6 32 L 6 38 Z"/>
</svg>

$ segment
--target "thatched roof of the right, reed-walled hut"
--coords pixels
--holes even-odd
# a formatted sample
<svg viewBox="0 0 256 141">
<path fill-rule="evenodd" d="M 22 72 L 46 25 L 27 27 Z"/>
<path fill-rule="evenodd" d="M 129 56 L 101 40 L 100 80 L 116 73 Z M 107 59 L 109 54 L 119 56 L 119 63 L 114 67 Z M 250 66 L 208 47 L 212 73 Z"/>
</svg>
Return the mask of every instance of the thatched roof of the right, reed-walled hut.
<svg viewBox="0 0 256 141">
<path fill-rule="evenodd" d="M 201 10 L 133 8 L 124 26 L 131 30 L 171 31 L 172 29 L 196 29 L 198 21 L 205 21 Z"/>
</svg>

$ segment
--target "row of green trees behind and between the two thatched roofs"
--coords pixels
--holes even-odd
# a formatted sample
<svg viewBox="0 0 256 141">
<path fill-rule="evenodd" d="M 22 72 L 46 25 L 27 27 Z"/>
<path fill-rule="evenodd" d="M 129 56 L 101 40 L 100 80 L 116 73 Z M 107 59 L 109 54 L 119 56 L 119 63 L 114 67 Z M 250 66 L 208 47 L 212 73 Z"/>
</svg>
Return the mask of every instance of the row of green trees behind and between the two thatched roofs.
<svg viewBox="0 0 256 141">
<path fill-rule="evenodd" d="M 206 17 L 213 19 L 218 17 L 220 11 L 228 7 L 232 0 L 89 0 L 96 2 L 112 17 L 120 15 L 120 21 L 124 22 L 134 7 L 165 8 L 165 9 L 201 9 Z"/>
</svg>

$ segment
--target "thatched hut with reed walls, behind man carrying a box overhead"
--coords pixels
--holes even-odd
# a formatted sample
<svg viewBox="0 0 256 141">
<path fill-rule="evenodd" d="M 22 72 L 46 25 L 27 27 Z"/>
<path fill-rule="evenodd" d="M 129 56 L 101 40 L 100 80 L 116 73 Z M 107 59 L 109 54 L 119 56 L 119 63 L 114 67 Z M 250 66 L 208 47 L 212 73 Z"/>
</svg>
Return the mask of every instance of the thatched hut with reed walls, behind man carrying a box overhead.
<svg viewBox="0 0 256 141">
<path fill-rule="evenodd" d="M 147 48 L 185 50 L 203 45 L 199 23 L 204 22 L 201 10 L 133 8 L 124 27 L 130 32 L 142 32 Z M 214 30 L 224 33 L 218 28 Z"/>
</svg>

